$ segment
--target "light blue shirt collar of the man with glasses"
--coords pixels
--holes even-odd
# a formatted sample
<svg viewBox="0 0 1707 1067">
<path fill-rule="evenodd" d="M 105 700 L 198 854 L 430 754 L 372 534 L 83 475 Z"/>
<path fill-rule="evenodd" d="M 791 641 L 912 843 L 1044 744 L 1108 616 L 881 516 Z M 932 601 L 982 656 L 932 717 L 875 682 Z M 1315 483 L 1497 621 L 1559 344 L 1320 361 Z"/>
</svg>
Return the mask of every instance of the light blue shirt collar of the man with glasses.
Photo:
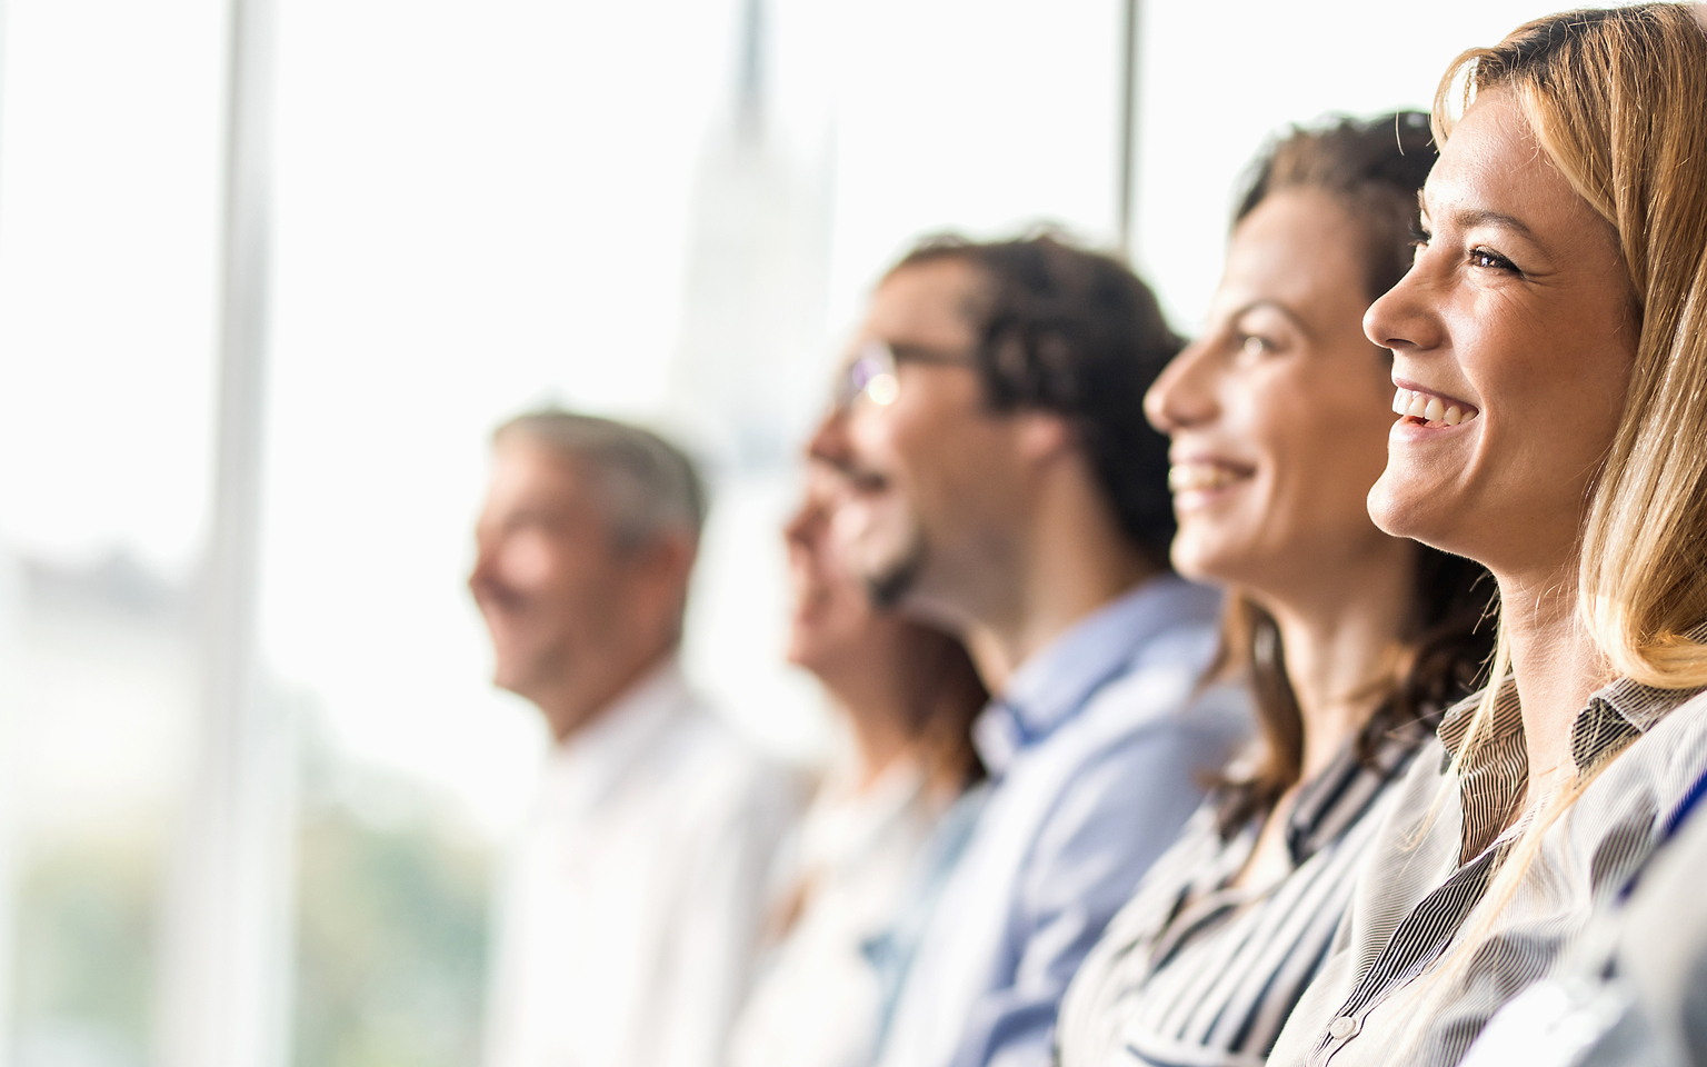
<svg viewBox="0 0 1707 1067">
<path fill-rule="evenodd" d="M 1091 698 L 1181 625 L 1210 625 L 1221 594 L 1173 574 L 1145 579 L 1081 618 L 1034 652 L 973 722 L 973 744 L 992 777 L 1074 719 Z"/>
</svg>

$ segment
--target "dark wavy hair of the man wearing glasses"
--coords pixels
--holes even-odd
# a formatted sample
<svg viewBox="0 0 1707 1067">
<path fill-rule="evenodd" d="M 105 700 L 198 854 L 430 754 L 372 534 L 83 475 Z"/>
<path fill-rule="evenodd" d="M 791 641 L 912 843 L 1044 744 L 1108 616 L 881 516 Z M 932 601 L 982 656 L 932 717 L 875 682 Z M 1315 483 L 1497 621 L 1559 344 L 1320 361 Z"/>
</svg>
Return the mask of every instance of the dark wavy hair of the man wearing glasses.
<svg viewBox="0 0 1707 1067">
<path fill-rule="evenodd" d="M 1156 295 L 1127 265 L 1057 232 L 987 244 L 942 234 L 889 273 L 941 259 L 968 263 L 985 280 L 963 309 L 980 338 L 985 401 L 1063 415 L 1127 538 L 1168 567 L 1168 439 L 1144 418 L 1144 393 L 1185 341 Z"/>
</svg>

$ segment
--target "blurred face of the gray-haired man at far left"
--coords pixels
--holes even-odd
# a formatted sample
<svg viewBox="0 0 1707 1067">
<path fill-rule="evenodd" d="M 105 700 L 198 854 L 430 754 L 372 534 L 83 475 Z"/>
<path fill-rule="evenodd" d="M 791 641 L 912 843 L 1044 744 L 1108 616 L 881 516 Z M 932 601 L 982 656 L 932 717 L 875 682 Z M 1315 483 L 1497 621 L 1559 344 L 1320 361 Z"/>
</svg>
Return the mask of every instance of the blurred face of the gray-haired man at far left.
<svg viewBox="0 0 1707 1067">
<path fill-rule="evenodd" d="M 468 587 L 492 630 L 493 683 L 550 715 L 553 695 L 597 671 L 591 661 L 623 632 L 630 560 L 580 464 L 519 435 L 495 451 L 475 538 Z M 574 724 L 551 726 L 562 736 Z"/>
</svg>

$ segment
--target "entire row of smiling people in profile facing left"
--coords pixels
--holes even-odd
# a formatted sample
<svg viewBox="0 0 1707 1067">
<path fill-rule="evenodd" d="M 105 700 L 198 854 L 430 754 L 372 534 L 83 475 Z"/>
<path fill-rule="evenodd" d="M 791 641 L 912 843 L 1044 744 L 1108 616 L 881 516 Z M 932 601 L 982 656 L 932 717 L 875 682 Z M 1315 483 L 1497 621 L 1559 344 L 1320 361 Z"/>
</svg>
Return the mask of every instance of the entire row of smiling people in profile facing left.
<svg viewBox="0 0 1707 1067">
<path fill-rule="evenodd" d="M 691 464 L 504 427 L 471 587 L 560 744 L 490 1067 L 1707 1062 L 1704 159 L 1637 3 L 1272 145 L 1190 345 L 918 246 L 787 531 L 852 743 L 792 831 L 674 664 Z"/>
</svg>

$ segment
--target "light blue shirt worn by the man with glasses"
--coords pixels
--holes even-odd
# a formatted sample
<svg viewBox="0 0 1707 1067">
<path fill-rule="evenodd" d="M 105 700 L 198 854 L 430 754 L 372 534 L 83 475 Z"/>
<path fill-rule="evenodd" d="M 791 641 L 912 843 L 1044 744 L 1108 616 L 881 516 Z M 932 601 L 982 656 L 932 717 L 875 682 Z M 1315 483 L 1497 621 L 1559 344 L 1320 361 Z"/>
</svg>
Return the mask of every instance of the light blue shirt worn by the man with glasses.
<svg viewBox="0 0 1707 1067">
<path fill-rule="evenodd" d="M 1219 596 L 1151 579 L 1014 673 L 973 726 L 988 796 L 894 1006 L 881 1067 L 1050 1064 L 1067 982 L 1250 732 L 1198 683 Z"/>
</svg>

